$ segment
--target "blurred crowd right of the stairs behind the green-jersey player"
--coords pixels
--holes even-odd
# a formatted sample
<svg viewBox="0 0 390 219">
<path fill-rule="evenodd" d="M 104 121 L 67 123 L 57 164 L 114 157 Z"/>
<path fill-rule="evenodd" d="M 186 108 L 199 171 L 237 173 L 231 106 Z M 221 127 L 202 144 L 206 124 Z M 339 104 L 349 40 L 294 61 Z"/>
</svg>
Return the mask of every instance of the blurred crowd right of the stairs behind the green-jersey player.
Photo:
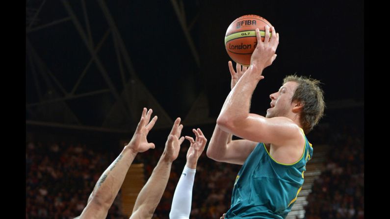
<svg viewBox="0 0 390 219">
<path fill-rule="evenodd" d="M 306 219 L 364 219 L 363 133 L 344 125 L 329 142 L 324 170 L 308 195 Z"/>
</svg>

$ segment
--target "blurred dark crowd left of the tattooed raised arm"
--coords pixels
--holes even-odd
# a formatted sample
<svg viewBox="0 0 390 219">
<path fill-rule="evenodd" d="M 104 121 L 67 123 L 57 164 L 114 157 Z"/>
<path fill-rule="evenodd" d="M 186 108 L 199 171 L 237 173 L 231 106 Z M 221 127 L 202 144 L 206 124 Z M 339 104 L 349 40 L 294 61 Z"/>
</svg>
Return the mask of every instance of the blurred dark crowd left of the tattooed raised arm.
<svg viewBox="0 0 390 219">
<path fill-rule="evenodd" d="M 117 156 L 81 144 L 26 144 L 26 219 L 70 219 L 82 212 L 96 182 Z M 120 194 L 107 218 L 124 218 Z"/>
</svg>

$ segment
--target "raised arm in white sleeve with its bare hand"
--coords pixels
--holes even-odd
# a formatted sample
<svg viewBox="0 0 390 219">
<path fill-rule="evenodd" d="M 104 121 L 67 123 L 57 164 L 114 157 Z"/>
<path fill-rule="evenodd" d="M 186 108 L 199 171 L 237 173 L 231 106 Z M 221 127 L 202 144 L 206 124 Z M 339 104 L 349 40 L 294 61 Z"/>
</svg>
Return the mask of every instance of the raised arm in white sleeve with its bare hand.
<svg viewBox="0 0 390 219">
<path fill-rule="evenodd" d="M 192 187 L 196 165 L 207 143 L 201 129 L 192 129 L 192 131 L 196 138 L 194 141 L 192 137 L 185 136 L 185 139 L 190 141 L 191 144 L 187 151 L 187 162 L 173 195 L 171 212 L 169 213 L 170 219 L 189 219 L 191 213 Z"/>
</svg>

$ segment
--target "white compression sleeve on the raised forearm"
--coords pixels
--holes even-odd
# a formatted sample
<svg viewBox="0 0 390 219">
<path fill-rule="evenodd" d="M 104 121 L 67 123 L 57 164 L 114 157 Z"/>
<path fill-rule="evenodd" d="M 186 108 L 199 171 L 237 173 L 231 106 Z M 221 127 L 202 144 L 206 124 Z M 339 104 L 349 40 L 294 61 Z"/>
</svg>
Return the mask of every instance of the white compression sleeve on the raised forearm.
<svg viewBox="0 0 390 219">
<path fill-rule="evenodd" d="M 191 213 L 192 187 L 196 170 L 184 166 L 182 176 L 173 195 L 170 219 L 189 219 Z"/>
</svg>

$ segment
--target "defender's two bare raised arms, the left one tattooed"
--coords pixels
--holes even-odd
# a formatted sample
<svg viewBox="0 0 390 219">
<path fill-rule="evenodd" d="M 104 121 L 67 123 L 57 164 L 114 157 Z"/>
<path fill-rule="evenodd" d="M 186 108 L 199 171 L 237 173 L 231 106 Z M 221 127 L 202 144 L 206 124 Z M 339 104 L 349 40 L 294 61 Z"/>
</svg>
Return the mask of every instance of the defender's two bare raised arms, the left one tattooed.
<svg viewBox="0 0 390 219">
<path fill-rule="evenodd" d="M 152 121 L 150 121 L 152 112 L 152 109 L 148 112 L 146 112 L 146 108 L 143 109 L 141 120 L 138 123 L 130 143 L 125 146 L 116 160 L 103 172 L 88 198 L 87 206 L 77 218 L 106 218 L 108 209 L 111 207 L 118 194 L 134 157 L 137 153 L 147 151 L 150 148 L 155 148 L 155 144 L 148 143 L 148 140 L 146 139 L 149 131 L 157 120 L 157 116 L 155 116 Z M 168 136 L 168 140 L 165 143 L 164 152 L 148 182 L 142 188 L 135 201 L 130 219 L 152 218 L 167 185 L 172 162 L 178 157 L 180 145 L 184 141 L 184 137 L 180 137 L 183 127 L 183 125 L 180 124 L 180 121 L 180 118 L 176 119 L 171 133 Z"/>
</svg>

